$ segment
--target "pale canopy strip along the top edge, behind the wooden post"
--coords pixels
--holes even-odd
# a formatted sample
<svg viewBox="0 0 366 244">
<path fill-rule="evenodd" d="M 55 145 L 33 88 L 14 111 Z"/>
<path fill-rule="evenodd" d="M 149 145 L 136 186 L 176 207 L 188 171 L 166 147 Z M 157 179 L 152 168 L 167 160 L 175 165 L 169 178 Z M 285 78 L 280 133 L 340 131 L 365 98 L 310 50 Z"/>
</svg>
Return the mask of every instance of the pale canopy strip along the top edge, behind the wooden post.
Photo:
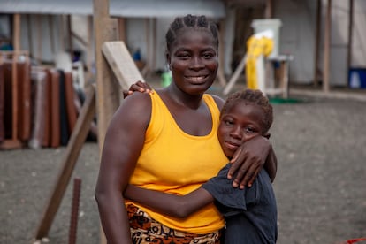
<svg viewBox="0 0 366 244">
<path fill-rule="evenodd" d="M 0 13 L 93 14 L 93 0 L 0 0 Z M 170 18 L 186 15 L 224 18 L 220 0 L 110 0 L 110 15 L 124 18 Z"/>
</svg>

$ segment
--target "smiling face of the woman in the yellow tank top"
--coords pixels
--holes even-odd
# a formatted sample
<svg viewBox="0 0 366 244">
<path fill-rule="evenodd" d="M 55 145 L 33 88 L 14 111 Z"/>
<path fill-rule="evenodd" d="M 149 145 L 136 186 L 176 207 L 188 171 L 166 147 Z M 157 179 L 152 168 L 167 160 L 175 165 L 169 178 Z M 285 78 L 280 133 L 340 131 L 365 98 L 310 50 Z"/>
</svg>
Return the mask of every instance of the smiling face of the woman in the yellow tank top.
<svg viewBox="0 0 366 244">
<path fill-rule="evenodd" d="M 217 47 L 208 30 L 184 28 L 167 53 L 172 80 L 182 91 L 201 95 L 216 79 Z"/>
</svg>

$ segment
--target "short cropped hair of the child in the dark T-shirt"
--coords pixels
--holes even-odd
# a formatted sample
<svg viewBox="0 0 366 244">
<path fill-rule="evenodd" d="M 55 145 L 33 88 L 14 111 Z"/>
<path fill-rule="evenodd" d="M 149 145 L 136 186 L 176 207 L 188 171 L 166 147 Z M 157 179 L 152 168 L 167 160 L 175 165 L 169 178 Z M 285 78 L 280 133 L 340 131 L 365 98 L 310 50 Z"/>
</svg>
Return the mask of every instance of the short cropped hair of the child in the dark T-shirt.
<svg viewBox="0 0 366 244">
<path fill-rule="evenodd" d="M 233 105 L 238 103 L 249 103 L 259 106 L 264 112 L 264 120 L 261 121 L 263 125 L 263 133 L 267 133 L 273 123 L 273 108 L 270 104 L 268 97 L 258 89 L 245 89 L 240 92 L 235 92 L 226 99 L 226 102 L 221 109 L 220 118 L 222 118 L 227 111 L 229 111 Z"/>
</svg>

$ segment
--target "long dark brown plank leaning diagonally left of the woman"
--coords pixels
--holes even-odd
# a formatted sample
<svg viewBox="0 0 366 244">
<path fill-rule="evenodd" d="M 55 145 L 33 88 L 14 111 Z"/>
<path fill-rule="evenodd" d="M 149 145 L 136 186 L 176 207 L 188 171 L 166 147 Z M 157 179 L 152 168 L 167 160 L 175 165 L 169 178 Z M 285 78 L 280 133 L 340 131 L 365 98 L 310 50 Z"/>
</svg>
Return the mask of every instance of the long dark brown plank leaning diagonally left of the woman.
<svg viewBox="0 0 366 244">
<path fill-rule="evenodd" d="M 41 240 L 43 237 L 46 237 L 50 231 L 50 225 L 56 216 L 57 210 L 65 194 L 67 185 L 72 176 L 72 171 L 77 162 L 82 145 L 87 139 L 90 123 L 93 121 L 94 116 L 95 88 L 91 87 L 88 91 L 87 99 L 81 108 L 74 130 L 72 131 L 70 141 L 65 149 L 65 155 L 62 160 L 63 166 L 58 173 L 55 187 L 50 194 L 50 198 L 42 214 L 41 223 L 37 227 L 35 233 L 36 240 Z"/>
</svg>

